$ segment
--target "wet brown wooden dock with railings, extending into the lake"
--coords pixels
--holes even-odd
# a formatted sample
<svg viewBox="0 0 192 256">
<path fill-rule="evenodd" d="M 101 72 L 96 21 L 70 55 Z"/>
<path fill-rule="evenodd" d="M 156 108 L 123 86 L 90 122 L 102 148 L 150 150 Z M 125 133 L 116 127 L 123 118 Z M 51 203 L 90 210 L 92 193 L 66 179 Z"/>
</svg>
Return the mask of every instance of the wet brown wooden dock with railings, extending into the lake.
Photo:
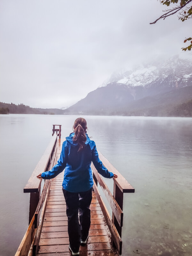
<svg viewBox="0 0 192 256">
<path fill-rule="evenodd" d="M 55 131 L 59 133 L 54 134 Z M 47 169 L 51 169 L 52 166 L 57 163 L 64 141 L 58 139 L 57 135 L 60 137 L 60 131 L 61 128 L 55 129 L 55 126 L 53 126 L 52 141 L 24 188 L 24 192 L 30 192 L 30 223 L 15 256 L 71 255 L 68 248 L 69 239 L 67 231 L 68 221 L 66 215 L 66 203 L 62 192 L 64 172 L 60 173 L 52 180 L 45 180 L 41 196 L 40 179 L 35 179 L 37 174 Z M 116 180 L 113 179 L 114 195 L 112 195 L 102 177 L 92 165 L 94 191 L 92 193 L 92 203 L 90 205 L 91 227 L 87 244 L 80 246 L 79 251 L 82 256 L 115 256 L 121 254 L 123 193 L 134 192 L 134 188 L 132 188 L 115 167 L 113 167 L 101 154 L 100 159 L 109 171 L 118 175 L 118 178 Z M 97 183 L 100 184 L 108 199 L 109 205 L 112 208 L 112 218 L 100 196 Z"/>
</svg>

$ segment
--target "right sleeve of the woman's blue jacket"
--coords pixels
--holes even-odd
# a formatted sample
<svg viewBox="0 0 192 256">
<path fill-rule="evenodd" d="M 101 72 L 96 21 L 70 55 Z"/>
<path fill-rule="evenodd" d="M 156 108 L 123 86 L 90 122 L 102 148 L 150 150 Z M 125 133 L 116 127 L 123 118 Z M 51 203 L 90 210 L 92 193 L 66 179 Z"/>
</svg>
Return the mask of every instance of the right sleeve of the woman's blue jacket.
<svg viewBox="0 0 192 256">
<path fill-rule="evenodd" d="M 113 172 L 109 172 L 107 168 L 102 164 L 102 162 L 99 159 L 99 155 L 97 152 L 97 148 L 95 145 L 95 142 L 93 141 L 93 148 L 92 148 L 92 162 L 97 169 L 97 171 L 105 178 L 113 178 Z"/>
</svg>

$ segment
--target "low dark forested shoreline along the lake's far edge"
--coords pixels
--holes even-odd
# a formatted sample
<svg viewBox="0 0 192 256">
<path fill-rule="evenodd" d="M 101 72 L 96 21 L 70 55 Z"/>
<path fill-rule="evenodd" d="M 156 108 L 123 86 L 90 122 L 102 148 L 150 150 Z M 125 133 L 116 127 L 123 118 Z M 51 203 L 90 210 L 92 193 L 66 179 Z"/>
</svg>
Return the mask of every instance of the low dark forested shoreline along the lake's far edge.
<svg viewBox="0 0 192 256">
<path fill-rule="evenodd" d="M 164 117 L 192 117 L 192 100 L 180 104 L 164 106 L 148 106 L 145 108 L 120 108 L 116 110 L 103 109 L 102 111 L 81 111 L 69 113 L 58 108 L 31 108 L 24 104 L 9 104 L 0 102 L 0 114 L 39 114 L 39 115 L 91 115 L 91 116 L 164 116 Z"/>
</svg>

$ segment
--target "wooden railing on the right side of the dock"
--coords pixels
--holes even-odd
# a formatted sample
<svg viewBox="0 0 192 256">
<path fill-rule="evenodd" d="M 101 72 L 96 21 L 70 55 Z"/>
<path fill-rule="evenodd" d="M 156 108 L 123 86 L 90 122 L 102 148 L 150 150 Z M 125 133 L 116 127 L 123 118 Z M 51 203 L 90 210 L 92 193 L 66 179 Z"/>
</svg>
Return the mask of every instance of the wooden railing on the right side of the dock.
<svg viewBox="0 0 192 256">
<path fill-rule="evenodd" d="M 108 186 L 104 182 L 101 175 L 97 172 L 94 165 L 91 164 L 91 168 L 93 171 L 93 180 L 94 185 L 93 189 L 97 196 L 97 200 L 100 204 L 101 210 L 103 212 L 103 215 L 105 217 L 105 220 L 107 222 L 108 228 L 111 232 L 111 238 L 113 245 L 115 245 L 118 253 L 122 254 L 122 240 L 121 240 L 121 233 L 122 233 L 122 227 L 123 227 L 123 194 L 124 193 L 134 193 L 135 189 L 129 184 L 127 180 L 121 175 L 120 172 L 116 170 L 116 168 L 100 153 L 99 158 L 102 161 L 103 165 L 108 169 L 109 172 L 113 172 L 118 177 L 114 181 L 113 186 L 113 195 L 110 192 Z M 99 189 L 97 187 L 97 184 L 99 183 L 100 187 L 102 188 L 106 199 L 108 200 L 108 203 L 112 209 L 112 218 L 107 210 L 106 205 L 103 202 L 103 199 L 100 196 Z"/>
</svg>

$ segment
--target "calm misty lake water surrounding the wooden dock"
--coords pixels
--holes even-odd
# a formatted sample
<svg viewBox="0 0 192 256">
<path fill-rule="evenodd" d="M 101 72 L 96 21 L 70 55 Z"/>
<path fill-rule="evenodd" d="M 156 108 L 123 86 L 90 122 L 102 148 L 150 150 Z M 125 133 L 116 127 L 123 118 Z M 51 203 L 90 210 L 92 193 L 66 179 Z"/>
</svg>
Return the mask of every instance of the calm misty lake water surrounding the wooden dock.
<svg viewBox="0 0 192 256">
<path fill-rule="evenodd" d="M 123 254 L 192 255 L 192 118 L 85 116 L 97 148 L 135 188 L 124 195 Z M 76 116 L 0 115 L 0 255 L 14 255 L 28 227 L 23 188 L 52 124 L 64 138 Z M 106 180 L 112 189 L 113 182 Z"/>
</svg>

